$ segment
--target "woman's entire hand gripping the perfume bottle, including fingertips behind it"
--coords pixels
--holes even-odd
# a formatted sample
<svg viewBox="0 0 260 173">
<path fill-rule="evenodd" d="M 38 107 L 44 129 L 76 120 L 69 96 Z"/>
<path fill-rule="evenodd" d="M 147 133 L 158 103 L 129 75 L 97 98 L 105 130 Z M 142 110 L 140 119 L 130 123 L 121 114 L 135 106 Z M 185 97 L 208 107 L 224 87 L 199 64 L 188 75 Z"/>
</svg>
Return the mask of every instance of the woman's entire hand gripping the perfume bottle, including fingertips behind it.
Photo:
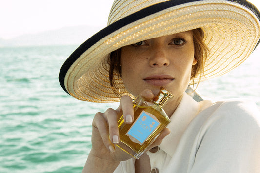
<svg viewBox="0 0 260 173">
<path fill-rule="evenodd" d="M 140 96 L 147 99 L 152 99 L 154 97 L 154 94 L 150 90 L 144 90 L 140 93 Z M 107 165 L 104 165 L 105 163 L 113 167 L 113 170 L 118 166 L 120 161 L 132 158 L 129 154 L 123 152 L 121 149 L 115 147 L 114 145 L 119 143 L 118 120 L 121 115 L 124 115 L 125 123 L 131 124 L 133 122 L 134 110 L 132 99 L 130 96 L 122 96 L 120 100 L 120 105 L 116 110 L 109 108 L 106 110 L 106 112 L 98 112 L 95 115 L 92 123 L 92 149 L 89 153 L 85 167 L 90 168 L 96 165 L 94 166 L 96 171 L 97 168 L 100 168 L 100 166 L 101 168 L 104 168 L 106 169 L 106 171 L 108 171 Z M 168 134 L 168 129 L 162 131 L 162 133 L 149 147 L 149 149 L 159 145 L 162 139 Z M 96 161 L 99 160 L 97 161 L 99 163 L 93 163 L 94 158 L 96 158 Z M 91 165 L 89 165 L 90 163 Z M 99 164 L 100 166 L 98 166 Z"/>
</svg>

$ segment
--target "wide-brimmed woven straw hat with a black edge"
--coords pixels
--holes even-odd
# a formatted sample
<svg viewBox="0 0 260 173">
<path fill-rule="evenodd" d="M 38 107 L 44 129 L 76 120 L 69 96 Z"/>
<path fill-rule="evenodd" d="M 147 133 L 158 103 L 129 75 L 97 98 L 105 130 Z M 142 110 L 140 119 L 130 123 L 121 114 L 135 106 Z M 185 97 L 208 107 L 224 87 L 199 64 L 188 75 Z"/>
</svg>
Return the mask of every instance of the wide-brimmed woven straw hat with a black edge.
<svg viewBox="0 0 260 173">
<path fill-rule="evenodd" d="M 109 83 L 107 57 L 112 51 L 196 28 L 204 31 L 210 50 L 203 81 L 234 69 L 253 52 L 260 38 L 260 13 L 246 0 L 115 0 L 108 26 L 64 62 L 60 85 L 80 100 L 120 101 Z M 120 94 L 130 95 L 120 76 L 114 78 Z"/>
</svg>

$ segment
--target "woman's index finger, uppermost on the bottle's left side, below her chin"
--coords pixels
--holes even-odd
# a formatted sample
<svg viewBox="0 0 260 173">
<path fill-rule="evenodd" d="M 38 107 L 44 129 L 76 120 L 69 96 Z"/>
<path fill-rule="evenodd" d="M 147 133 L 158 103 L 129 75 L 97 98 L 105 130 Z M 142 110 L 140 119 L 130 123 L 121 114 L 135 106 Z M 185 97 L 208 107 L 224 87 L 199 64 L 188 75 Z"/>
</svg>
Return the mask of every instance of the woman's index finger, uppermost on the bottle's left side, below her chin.
<svg viewBox="0 0 260 173">
<path fill-rule="evenodd" d="M 124 115 L 124 122 L 130 124 L 134 119 L 133 102 L 130 96 L 122 96 L 120 105 L 117 109 L 118 112 L 122 112 Z"/>
</svg>

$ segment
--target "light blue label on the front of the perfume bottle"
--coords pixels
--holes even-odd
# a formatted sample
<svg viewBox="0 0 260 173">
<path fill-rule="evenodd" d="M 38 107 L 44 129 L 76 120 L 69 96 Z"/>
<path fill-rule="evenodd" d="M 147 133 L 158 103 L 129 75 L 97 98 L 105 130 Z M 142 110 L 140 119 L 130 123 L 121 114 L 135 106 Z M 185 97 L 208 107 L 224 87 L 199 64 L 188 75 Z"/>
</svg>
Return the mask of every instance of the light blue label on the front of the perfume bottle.
<svg viewBox="0 0 260 173">
<path fill-rule="evenodd" d="M 140 145 L 142 145 L 160 125 L 160 122 L 154 115 L 148 114 L 149 113 L 142 111 L 135 123 L 126 133 L 133 142 L 139 143 Z"/>
</svg>

